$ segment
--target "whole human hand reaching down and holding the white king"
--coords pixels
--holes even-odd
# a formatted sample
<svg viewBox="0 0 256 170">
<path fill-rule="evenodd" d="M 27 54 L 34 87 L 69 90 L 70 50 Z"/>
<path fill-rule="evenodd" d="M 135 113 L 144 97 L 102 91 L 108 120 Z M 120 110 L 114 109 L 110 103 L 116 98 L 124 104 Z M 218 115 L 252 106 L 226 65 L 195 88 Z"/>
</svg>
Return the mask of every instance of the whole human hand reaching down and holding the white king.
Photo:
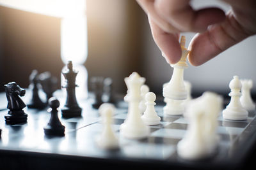
<svg viewBox="0 0 256 170">
<path fill-rule="evenodd" d="M 256 1 L 223 0 L 231 10 L 193 10 L 190 0 L 137 0 L 148 15 L 152 36 L 167 62 L 180 60 L 180 32 L 198 32 L 191 40 L 188 59 L 200 66 L 230 46 L 256 34 Z"/>
</svg>

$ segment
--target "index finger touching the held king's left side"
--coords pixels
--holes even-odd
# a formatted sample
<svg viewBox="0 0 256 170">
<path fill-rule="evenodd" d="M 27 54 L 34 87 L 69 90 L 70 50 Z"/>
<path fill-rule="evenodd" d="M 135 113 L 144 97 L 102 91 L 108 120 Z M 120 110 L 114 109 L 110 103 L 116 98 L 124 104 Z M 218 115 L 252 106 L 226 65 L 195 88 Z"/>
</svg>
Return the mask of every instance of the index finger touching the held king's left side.
<svg viewBox="0 0 256 170">
<path fill-rule="evenodd" d="M 158 25 L 148 16 L 152 36 L 159 46 L 164 58 L 170 64 L 175 64 L 180 60 L 181 48 L 179 43 L 179 34 L 169 34 L 164 32 Z"/>
</svg>

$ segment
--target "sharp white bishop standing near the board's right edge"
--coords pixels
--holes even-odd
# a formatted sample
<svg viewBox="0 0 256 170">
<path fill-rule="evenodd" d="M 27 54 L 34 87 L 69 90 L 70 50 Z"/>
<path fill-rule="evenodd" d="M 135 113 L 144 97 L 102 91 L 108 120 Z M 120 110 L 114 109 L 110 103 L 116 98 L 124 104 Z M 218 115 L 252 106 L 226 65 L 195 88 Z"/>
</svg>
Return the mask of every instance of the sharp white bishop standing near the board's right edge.
<svg viewBox="0 0 256 170">
<path fill-rule="evenodd" d="M 222 111 L 223 118 L 229 120 L 246 120 L 248 117 L 248 111 L 243 108 L 239 99 L 241 96 L 240 90 L 242 83 L 238 76 L 233 77 L 229 83 L 229 87 L 231 92 L 228 94 L 228 96 L 230 96 L 231 99 L 228 106 Z"/>
</svg>

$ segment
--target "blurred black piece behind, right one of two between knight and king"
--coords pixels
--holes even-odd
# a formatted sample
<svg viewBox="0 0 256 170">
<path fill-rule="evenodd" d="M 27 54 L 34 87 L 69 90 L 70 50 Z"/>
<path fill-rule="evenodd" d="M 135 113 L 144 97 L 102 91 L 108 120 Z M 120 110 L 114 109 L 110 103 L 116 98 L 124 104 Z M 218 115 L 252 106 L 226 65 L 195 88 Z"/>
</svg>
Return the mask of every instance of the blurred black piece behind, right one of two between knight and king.
<svg viewBox="0 0 256 170">
<path fill-rule="evenodd" d="M 47 101 L 52 97 L 52 94 L 58 89 L 58 79 L 51 75 L 49 71 L 39 74 L 38 80 L 42 85 L 42 90 L 46 94 Z"/>
</svg>

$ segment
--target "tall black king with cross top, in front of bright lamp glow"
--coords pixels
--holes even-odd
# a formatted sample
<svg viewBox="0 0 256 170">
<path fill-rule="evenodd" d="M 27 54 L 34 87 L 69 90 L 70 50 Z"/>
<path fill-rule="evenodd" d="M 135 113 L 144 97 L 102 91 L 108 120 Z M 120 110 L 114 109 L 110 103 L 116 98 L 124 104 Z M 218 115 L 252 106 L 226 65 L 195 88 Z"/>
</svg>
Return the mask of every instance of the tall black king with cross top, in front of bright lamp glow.
<svg viewBox="0 0 256 170">
<path fill-rule="evenodd" d="M 62 117 L 81 117 L 82 109 L 78 106 L 76 100 L 76 76 L 77 71 L 73 70 L 72 61 L 68 61 L 67 70 L 62 73 L 65 77 L 65 85 L 62 88 L 67 90 L 67 100 L 63 108 L 61 108 Z"/>
</svg>

